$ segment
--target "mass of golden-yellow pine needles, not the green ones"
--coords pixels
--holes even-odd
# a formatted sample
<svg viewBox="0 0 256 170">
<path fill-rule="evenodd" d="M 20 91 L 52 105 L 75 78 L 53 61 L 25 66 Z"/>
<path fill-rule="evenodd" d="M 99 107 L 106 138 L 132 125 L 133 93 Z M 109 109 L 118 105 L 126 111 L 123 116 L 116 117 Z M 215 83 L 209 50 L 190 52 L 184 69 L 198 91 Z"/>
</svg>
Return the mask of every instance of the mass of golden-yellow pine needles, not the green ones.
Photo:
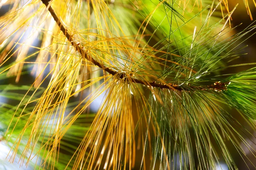
<svg viewBox="0 0 256 170">
<path fill-rule="evenodd" d="M 164 1 L 158 3 L 145 20 L 143 20 L 139 31 L 137 31 L 135 36 L 126 35 L 122 26 L 119 24 L 119 21 L 105 1 L 90 0 L 89 2 L 89 0 L 87 0 L 87 2 L 84 2 L 82 0 L 77 0 L 76 3 L 74 2 L 54 0 L 50 2 L 50 6 L 55 9 L 61 23 L 66 26 L 69 34 L 74 37 L 76 44 L 81 44 L 87 54 L 90 54 L 96 61 L 103 63 L 108 68 L 123 73 L 125 77 L 119 79 L 120 74 L 112 76 L 106 73 L 103 76 L 95 77 L 95 75 L 100 74 L 100 69 L 96 68 L 96 66 L 88 60 L 79 56 L 76 49 L 57 27 L 57 24 L 52 19 L 47 8 L 41 4 L 41 1 L 32 1 L 27 6 L 22 6 L 22 8 L 18 8 L 19 3 L 18 1 L 15 1 L 10 14 L 0 20 L 0 23 L 3 23 L 1 24 L 3 27 L 0 28 L 0 37 L 5 37 L 0 38 L 1 42 L 8 40 L 11 37 L 8 35 L 9 33 L 7 33 L 7 30 L 10 29 L 9 31 L 12 32 L 11 34 L 15 34 L 13 40 L 10 41 L 10 44 L 16 42 L 16 45 L 20 45 L 17 49 L 15 49 L 15 47 L 12 48 L 12 45 L 7 46 L 7 51 L 15 49 L 15 52 L 10 56 L 17 55 L 17 64 L 6 70 L 10 69 L 10 75 L 17 75 L 16 80 L 18 81 L 23 65 L 29 63 L 25 60 L 32 57 L 32 55 L 38 54 L 37 59 L 33 62 L 36 65 L 32 70 L 32 74 L 35 74 L 37 77 L 33 86 L 37 88 L 32 96 L 38 91 L 38 88 L 48 77 L 50 77 L 50 82 L 44 94 L 42 94 L 39 99 L 32 100 L 31 96 L 29 101 L 26 102 L 23 111 L 30 103 L 37 102 L 32 113 L 23 114 L 22 111 L 18 116 L 18 121 L 23 116 L 29 116 L 29 118 L 12 147 L 13 153 L 10 161 L 14 161 L 25 131 L 31 128 L 27 144 L 20 155 L 21 165 L 26 159 L 26 165 L 28 165 L 33 157 L 43 153 L 44 160 L 41 160 L 41 165 L 43 165 L 44 168 L 50 167 L 51 169 L 54 169 L 54 165 L 58 161 L 61 139 L 67 130 L 73 125 L 76 119 L 90 107 L 90 104 L 100 94 L 107 91 L 105 99 L 99 111 L 96 113 L 95 119 L 93 119 L 90 130 L 84 135 L 81 144 L 73 155 L 73 158 L 75 158 L 73 169 L 84 169 L 85 167 L 88 169 L 101 169 L 102 167 L 104 169 L 110 169 L 111 167 L 113 167 L 113 169 L 120 169 L 122 166 L 124 166 L 122 167 L 124 169 L 126 167 L 132 169 L 136 159 L 135 150 L 141 148 L 143 149 L 142 164 L 144 164 L 145 168 L 147 140 L 151 147 L 151 134 L 148 133 L 150 125 L 153 128 L 154 136 L 157 136 L 157 131 L 160 130 L 160 127 L 157 123 L 154 123 L 156 117 L 151 115 L 153 109 L 150 107 L 147 108 L 148 102 L 144 91 L 141 90 L 140 86 L 132 82 L 130 78 L 138 77 L 141 81 L 145 82 L 145 85 L 147 85 L 149 80 L 157 80 L 162 84 L 166 84 L 168 80 L 159 79 L 159 71 L 154 70 L 157 67 L 161 68 L 162 65 L 165 65 L 163 64 L 164 62 L 179 65 L 182 68 L 190 70 L 194 74 L 196 71 L 186 67 L 186 65 L 180 65 L 178 62 L 157 57 L 157 54 L 167 54 L 169 52 L 154 49 L 143 41 L 144 36 L 148 36 L 148 34 L 145 34 L 145 31 L 154 12 Z M 183 12 L 187 8 L 189 2 L 189 0 L 183 1 Z M 179 1 L 179 4 L 180 3 L 181 1 Z M 229 12 L 227 0 L 220 1 L 223 18 L 222 3 L 229 15 L 225 23 L 226 25 L 227 22 L 230 22 L 233 11 Z M 40 7 L 36 8 L 36 10 L 31 9 L 32 7 L 38 6 L 38 4 Z M 81 13 L 81 8 L 84 4 L 87 4 L 87 12 Z M 200 5 L 199 3 L 197 4 L 198 8 L 200 6 L 201 10 L 201 0 Z M 245 1 L 245 5 L 247 12 L 252 19 L 247 0 Z M 212 11 L 210 12 L 210 16 L 215 9 L 216 8 L 213 7 L 211 8 Z M 90 13 L 90 11 L 93 12 Z M 87 18 L 87 29 L 80 30 L 81 17 Z M 34 18 L 36 18 L 37 25 L 29 26 L 32 24 L 32 19 Z M 34 40 L 33 36 L 37 36 L 35 33 L 41 25 L 44 26 L 43 29 L 41 28 L 41 31 L 44 32 L 42 45 L 38 48 L 39 51 L 26 56 L 29 48 L 32 47 L 32 41 Z M 221 28 L 221 31 L 223 31 L 224 26 Z M 32 28 L 29 38 L 21 43 L 20 40 L 24 32 L 20 32 L 19 30 L 21 28 L 26 30 L 29 27 Z M 9 53 L 5 51 L 0 57 L 0 61 L 2 62 L 1 65 L 10 58 L 6 58 L 8 55 Z M 182 57 L 176 54 L 172 55 Z M 44 71 L 49 65 L 51 65 L 50 71 L 44 78 Z M 143 65 L 143 67 L 141 67 L 141 65 Z M 185 74 L 181 73 L 181 75 L 185 77 Z M 102 80 L 103 82 L 100 82 Z M 79 85 L 81 85 L 81 88 L 74 91 Z M 97 88 L 91 89 L 92 86 Z M 150 84 L 148 84 L 148 86 L 150 86 Z M 70 113 L 65 113 L 70 97 L 75 96 L 84 90 L 89 91 L 87 97 L 82 99 L 79 105 Z M 158 91 L 153 87 L 149 88 L 149 90 L 153 94 L 155 101 L 163 105 L 163 101 L 159 96 Z M 169 93 L 171 92 L 169 91 Z M 175 95 L 179 96 L 179 94 Z M 20 105 L 21 103 L 22 101 L 20 102 Z M 135 106 L 133 103 L 135 103 Z M 82 105 L 81 108 L 79 108 L 80 105 Z M 75 113 L 78 108 L 79 111 Z M 143 116 L 140 114 L 142 112 L 145 112 L 143 113 Z M 15 113 L 17 113 L 17 110 Z M 177 128 L 180 130 L 179 133 L 185 136 L 186 146 L 183 147 L 186 147 L 186 150 L 192 150 L 189 141 L 190 139 L 187 137 L 189 127 L 186 126 L 188 124 L 186 121 L 189 117 L 185 115 L 185 113 L 185 111 L 177 113 L 175 116 L 175 118 L 177 117 L 177 120 L 175 119 L 174 121 L 177 127 L 184 127 Z M 209 117 L 213 113 L 209 112 L 205 114 Z M 202 113 L 198 116 L 198 119 L 195 120 L 195 122 L 199 123 L 203 122 L 202 120 L 205 121 L 204 116 L 205 115 Z M 211 121 L 211 119 L 209 119 L 209 121 Z M 17 122 L 14 128 L 16 125 Z M 135 128 L 135 125 L 138 125 L 137 140 L 137 129 Z M 212 128 L 216 129 L 217 127 Z M 146 135 L 145 131 L 147 133 Z M 181 137 L 177 136 L 177 138 Z M 41 141 L 41 144 L 39 143 L 39 149 L 36 150 L 39 141 Z M 167 167 L 170 168 L 163 136 L 160 136 L 160 142 L 163 149 L 162 160 L 165 160 L 168 165 Z M 34 152 L 36 152 L 35 155 L 33 155 Z M 190 162 L 192 162 L 191 160 L 193 156 L 190 152 L 188 154 Z M 214 157 L 212 155 L 210 156 Z M 70 162 L 68 164 L 70 164 Z M 48 167 L 45 167 L 46 165 Z"/>
</svg>

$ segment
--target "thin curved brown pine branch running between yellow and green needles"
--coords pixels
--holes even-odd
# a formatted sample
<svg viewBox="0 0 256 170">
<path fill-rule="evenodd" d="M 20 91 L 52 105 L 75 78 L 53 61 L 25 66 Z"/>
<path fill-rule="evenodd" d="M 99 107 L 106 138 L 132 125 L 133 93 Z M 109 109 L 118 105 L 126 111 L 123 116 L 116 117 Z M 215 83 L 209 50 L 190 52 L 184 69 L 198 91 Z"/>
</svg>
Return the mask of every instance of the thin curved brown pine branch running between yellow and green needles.
<svg viewBox="0 0 256 170">
<path fill-rule="evenodd" d="M 80 44 L 77 44 L 76 41 L 73 39 L 73 37 L 68 33 L 67 28 L 63 26 L 61 23 L 60 19 L 56 15 L 55 11 L 52 9 L 52 7 L 49 5 L 50 0 L 41 0 L 42 3 L 48 8 L 48 11 L 51 13 L 53 19 L 59 26 L 60 30 L 63 32 L 64 36 L 67 38 L 67 40 L 73 45 L 73 47 L 76 49 L 77 52 L 81 54 L 82 57 L 85 59 L 89 60 L 92 62 L 94 65 L 97 65 L 99 68 L 102 68 L 104 71 L 108 72 L 109 74 L 112 75 L 117 75 L 119 74 L 119 78 L 125 78 L 125 74 L 120 74 L 118 71 L 114 71 L 111 68 L 105 67 L 104 64 L 98 62 L 96 59 L 93 59 L 81 46 Z M 131 82 L 134 83 L 140 83 L 142 85 L 146 86 L 151 86 L 151 87 L 157 87 L 161 89 L 171 89 L 171 90 L 178 90 L 178 91 L 192 91 L 192 89 L 195 90 L 208 90 L 208 89 L 214 89 L 216 91 L 222 91 L 222 90 L 227 90 L 227 85 L 223 82 L 215 82 L 214 85 L 209 85 L 207 88 L 201 87 L 201 86 L 188 86 L 188 87 L 181 87 L 178 85 L 173 85 L 173 84 L 162 84 L 162 83 L 157 83 L 155 81 L 153 82 L 148 82 L 148 81 L 143 81 L 140 79 L 135 79 L 133 77 L 128 77 Z"/>
</svg>

